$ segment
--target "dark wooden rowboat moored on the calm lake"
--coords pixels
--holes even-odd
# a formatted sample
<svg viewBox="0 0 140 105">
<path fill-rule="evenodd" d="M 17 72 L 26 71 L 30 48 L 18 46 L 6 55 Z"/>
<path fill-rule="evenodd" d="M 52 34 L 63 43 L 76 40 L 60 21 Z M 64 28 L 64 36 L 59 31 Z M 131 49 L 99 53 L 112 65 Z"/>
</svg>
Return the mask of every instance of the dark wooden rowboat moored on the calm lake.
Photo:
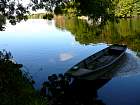
<svg viewBox="0 0 140 105">
<path fill-rule="evenodd" d="M 113 69 L 113 65 L 125 54 L 126 49 L 126 45 L 111 45 L 74 65 L 65 75 L 96 79 L 106 71 Z"/>
</svg>

